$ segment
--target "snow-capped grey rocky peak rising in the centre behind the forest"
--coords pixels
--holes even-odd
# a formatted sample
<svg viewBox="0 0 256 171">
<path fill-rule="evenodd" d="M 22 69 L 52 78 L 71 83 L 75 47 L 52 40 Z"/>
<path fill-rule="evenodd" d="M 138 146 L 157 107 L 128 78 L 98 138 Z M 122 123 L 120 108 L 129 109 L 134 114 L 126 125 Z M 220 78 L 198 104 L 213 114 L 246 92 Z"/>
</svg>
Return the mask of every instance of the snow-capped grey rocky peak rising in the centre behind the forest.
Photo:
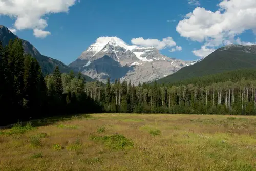
<svg viewBox="0 0 256 171">
<path fill-rule="evenodd" d="M 69 66 L 84 75 L 105 82 L 108 77 L 129 81 L 135 85 L 173 74 L 196 61 L 169 58 L 154 47 L 128 45 L 118 37 L 96 41 Z"/>
</svg>

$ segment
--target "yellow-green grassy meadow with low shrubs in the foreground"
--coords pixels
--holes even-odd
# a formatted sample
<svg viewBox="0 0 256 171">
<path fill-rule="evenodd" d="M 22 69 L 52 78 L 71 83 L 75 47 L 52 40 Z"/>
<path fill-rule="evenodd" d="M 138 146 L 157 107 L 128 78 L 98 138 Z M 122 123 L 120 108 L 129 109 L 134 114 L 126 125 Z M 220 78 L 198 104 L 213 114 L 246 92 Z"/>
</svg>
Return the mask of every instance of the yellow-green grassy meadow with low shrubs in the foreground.
<svg viewBox="0 0 256 171">
<path fill-rule="evenodd" d="M 0 130 L 0 170 L 256 170 L 255 116 L 91 114 L 33 124 L 42 126 Z"/>
</svg>

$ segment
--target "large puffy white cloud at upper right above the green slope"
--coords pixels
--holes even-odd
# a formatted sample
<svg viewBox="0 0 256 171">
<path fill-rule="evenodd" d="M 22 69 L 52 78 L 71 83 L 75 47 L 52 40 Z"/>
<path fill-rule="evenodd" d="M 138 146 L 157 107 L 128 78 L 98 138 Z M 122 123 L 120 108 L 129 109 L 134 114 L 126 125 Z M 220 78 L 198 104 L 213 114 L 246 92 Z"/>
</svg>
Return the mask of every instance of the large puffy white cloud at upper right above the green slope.
<svg viewBox="0 0 256 171">
<path fill-rule="evenodd" d="M 256 33 L 256 1 L 222 0 L 218 6 L 217 11 L 196 7 L 176 27 L 182 37 L 204 42 L 200 50 L 193 51 L 196 56 L 204 56 L 213 50 L 212 47 L 221 45 L 253 44 L 234 37 L 245 30 Z"/>
</svg>

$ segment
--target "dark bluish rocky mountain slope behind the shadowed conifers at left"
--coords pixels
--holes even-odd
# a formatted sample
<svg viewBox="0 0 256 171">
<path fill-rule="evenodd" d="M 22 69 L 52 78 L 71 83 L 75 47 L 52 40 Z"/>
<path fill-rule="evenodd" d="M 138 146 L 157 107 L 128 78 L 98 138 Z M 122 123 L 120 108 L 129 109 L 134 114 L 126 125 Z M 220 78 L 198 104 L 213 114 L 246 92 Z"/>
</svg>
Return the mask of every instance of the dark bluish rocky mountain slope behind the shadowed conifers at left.
<svg viewBox="0 0 256 171">
<path fill-rule="evenodd" d="M 0 25 L 0 40 L 2 41 L 3 46 L 8 45 L 8 42 L 11 39 L 14 40 L 15 38 L 17 38 L 17 36 L 13 34 L 7 27 Z M 69 66 L 65 65 L 59 60 L 41 55 L 40 52 L 32 44 L 30 44 L 30 42 L 23 39 L 22 42 L 25 53 L 30 54 L 37 59 L 41 66 L 42 73 L 45 75 L 52 73 L 55 66 L 59 66 L 61 72 L 70 72 L 72 70 Z M 86 79 L 88 81 L 92 80 L 92 78 L 88 76 L 86 76 Z"/>
</svg>

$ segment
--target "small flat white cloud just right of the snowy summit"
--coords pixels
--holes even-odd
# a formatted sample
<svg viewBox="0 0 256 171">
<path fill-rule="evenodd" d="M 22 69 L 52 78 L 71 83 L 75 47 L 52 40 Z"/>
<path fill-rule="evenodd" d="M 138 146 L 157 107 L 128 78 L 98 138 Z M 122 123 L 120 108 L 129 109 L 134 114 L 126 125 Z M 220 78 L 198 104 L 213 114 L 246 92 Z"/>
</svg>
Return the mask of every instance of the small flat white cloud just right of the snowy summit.
<svg viewBox="0 0 256 171">
<path fill-rule="evenodd" d="M 155 47 L 159 50 L 165 49 L 167 47 L 174 47 L 176 46 L 176 42 L 173 40 L 172 37 L 163 38 L 162 41 L 158 39 L 144 39 L 140 38 L 133 38 L 132 44 L 142 47 Z"/>
</svg>

